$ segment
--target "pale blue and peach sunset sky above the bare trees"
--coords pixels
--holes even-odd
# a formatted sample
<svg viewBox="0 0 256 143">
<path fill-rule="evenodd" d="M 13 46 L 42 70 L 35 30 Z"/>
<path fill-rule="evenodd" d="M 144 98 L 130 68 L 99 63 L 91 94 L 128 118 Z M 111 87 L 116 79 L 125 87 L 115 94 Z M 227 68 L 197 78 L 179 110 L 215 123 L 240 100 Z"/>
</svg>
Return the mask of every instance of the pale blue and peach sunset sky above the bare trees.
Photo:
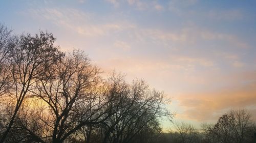
<svg viewBox="0 0 256 143">
<path fill-rule="evenodd" d="M 104 71 L 143 78 L 172 98 L 176 121 L 216 122 L 229 109 L 256 121 L 256 1 L 0 1 L 15 34 L 47 30 Z M 163 122 L 168 128 L 170 123 Z"/>
</svg>

